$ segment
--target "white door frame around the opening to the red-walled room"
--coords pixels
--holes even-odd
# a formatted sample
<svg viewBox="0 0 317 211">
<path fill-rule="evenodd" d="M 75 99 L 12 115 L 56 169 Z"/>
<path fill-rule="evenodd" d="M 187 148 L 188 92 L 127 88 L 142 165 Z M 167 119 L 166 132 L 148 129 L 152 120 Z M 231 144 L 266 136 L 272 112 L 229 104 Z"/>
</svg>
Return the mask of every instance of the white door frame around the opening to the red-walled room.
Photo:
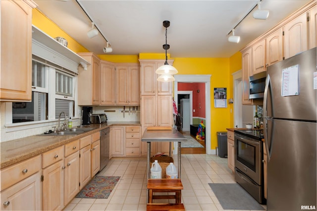
<svg viewBox="0 0 317 211">
<path fill-rule="evenodd" d="M 206 128 L 205 128 L 205 143 L 206 143 L 206 154 L 211 155 L 211 105 L 210 105 L 210 87 L 211 87 L 211 75 L 174 75 L 175 82 L 174 82 L 174 100 L 178 102 L 178 94 L 181 94 L 178 91 L 178 82 L 185 82 L 185 83 L 205 83 L 205 90 L 201 90 L 201 92 L 205 93 L 205 109 L 206 109 Z M 191 113 L 193 109 L 191 108 Z M 191 122 L 192 123 L 192 122 Z M 174 144 L 177 146 L 177 143 Z M 174 148 L 174 155 L 177 155 L 177 147 Z"/>
</svg>

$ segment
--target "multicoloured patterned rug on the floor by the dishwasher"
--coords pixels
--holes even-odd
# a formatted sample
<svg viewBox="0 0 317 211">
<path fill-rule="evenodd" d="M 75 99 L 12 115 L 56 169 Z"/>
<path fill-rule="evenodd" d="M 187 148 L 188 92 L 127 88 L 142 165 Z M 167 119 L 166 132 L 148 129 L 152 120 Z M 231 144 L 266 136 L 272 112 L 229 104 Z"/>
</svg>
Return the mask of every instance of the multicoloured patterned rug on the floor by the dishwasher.
<svg viewBox="0 0 317 211">
<path fill-rule="evenodd" d="M 119 178 L 119 176 L 95 176 L 76 198 L 107 199 Z"/>
</svg>

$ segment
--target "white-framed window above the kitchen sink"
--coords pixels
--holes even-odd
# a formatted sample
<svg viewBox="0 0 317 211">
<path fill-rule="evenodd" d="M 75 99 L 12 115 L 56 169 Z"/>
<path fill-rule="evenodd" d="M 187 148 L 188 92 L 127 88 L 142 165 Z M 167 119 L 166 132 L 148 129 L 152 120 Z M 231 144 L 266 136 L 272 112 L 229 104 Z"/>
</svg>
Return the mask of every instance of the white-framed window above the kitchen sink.
<svg viewBox="0 0 317 211">
<path fill-rule="evenodd" d="M 68 117 L 74 116 L 74 82 L 77 78 L 70 73 L 33 55 L 32 102 L 12 104 L 12 123 L 57 119 L 62 111 Z"/>
</svg>

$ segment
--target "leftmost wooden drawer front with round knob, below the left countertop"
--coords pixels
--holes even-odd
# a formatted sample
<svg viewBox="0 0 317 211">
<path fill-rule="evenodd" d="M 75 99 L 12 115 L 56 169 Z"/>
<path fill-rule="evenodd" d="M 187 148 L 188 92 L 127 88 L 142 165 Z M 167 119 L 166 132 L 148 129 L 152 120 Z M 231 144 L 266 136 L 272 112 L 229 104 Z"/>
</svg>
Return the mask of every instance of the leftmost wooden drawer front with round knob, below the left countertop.
<svg viewBox="0 0 317 211">
<path fill-rule="evenodd" d="M 19 162 L 17 164 L 3 168 L 0 171 L 1 187 L 0 191 L 4 190 L 15 183 L 31 176 L 40 171 L 42 167 L 41 155 Z"/>
</svg>

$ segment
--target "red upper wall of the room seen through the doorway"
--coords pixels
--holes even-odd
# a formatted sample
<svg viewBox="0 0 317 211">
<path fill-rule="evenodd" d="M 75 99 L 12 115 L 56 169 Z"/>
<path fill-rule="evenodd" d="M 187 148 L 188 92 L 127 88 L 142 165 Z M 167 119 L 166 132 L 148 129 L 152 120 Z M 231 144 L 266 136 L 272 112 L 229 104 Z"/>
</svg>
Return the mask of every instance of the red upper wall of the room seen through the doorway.
<svg viewBox="0 0 317 211">
<path fill-rule="evenodd" d="M 178 91 L 193 91 L 193 117 L 206 118 L 205 83 L 178 83 L 177 87 Z"/>
</svg>

